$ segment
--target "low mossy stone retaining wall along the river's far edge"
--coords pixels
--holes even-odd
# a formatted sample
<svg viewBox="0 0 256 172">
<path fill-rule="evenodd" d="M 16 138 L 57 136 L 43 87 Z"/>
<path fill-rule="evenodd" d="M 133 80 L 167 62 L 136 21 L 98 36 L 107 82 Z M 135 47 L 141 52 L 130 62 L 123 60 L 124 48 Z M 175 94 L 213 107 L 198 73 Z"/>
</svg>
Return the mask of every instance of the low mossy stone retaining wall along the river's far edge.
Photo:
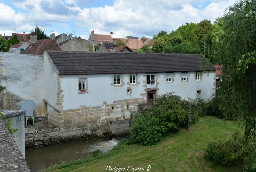
<svg viewBox="0 0 256 172">
<path fill-rule="evenodd" d="M 38 131 L 27 128 L 25 131 L 25 147 L 35 148 L 74 139 L 127 134 L 129 133 L 129 128 L 132 124 L 131 121 L 132 120 L 121 120 L 121 122 L 113 121 L 72 129 L 60 129 L 53 125 L 47 125 Z"/>
</svg>

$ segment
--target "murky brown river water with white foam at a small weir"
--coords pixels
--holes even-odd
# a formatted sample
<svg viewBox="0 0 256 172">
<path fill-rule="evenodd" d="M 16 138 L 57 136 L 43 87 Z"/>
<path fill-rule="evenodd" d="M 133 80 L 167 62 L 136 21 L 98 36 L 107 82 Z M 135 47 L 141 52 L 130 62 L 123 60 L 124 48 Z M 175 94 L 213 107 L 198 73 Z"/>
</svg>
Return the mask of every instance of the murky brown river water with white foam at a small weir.
<svg viewBox="0 0 256 172">
<path fill-rule="evenodd" d="M 122 138 L 129 139 L 129 135 L 115 137 L 117 140 L 121 140 Z M 116 144 L 115 141 L 109 140 L 109 138 L 65 142 L 42 148 L 26 149 L 25 160 L 31 172 L 35 172 L 62 161 L 91 157 L 92 152 L 96 149 L 106 153 Z"/>
</svg>

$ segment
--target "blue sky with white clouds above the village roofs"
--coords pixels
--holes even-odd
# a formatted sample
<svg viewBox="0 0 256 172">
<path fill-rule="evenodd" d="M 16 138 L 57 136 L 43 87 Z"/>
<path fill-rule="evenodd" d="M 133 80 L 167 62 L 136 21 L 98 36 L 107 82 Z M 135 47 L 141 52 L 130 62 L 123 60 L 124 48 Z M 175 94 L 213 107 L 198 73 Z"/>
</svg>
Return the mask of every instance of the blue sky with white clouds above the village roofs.
<svg viewBox="0 0 256 172">
<path fill-rule="evenodd" d="M 114 33 L 117 38 L 171 32 L 187 22 L 215 21 L 237 0 L 0 0 L 0 34 L 29 33 L 37 26 L 50 36 L 72 32 L 88 39 Z"/>
</svg>

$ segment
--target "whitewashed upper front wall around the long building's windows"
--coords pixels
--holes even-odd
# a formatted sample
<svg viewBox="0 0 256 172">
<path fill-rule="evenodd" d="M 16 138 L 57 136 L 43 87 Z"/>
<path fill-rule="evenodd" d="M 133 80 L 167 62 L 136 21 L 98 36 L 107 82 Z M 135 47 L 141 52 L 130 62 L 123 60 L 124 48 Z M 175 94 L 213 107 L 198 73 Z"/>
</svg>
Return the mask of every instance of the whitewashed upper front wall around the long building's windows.
<svg viewBox="0 0 256 172">
<path fill-rule="evenodd" d="M 185 96 L 196 98 L 197 90 L 201 90 L 200 97 L 209 99 L 214 93 L 214 71 L 210 71 L 209 76 L 203 74 L 202 81 L 195 81 L 194 72 L 189 72 L 190 77 L 188 82 L 181 82 L 180 72 L 175 73 L 174 82 L 166 82 L 165 74 L 157 73 L 159 75 L 157 79 L 157 82 L 159 82 L 159 94 L 174 91 L 176 92 L 174 94 L 180 95 L 182 98 Z M 104 101 L 113 103 L 115 100 L 142 97 L 140 94 L 145 93 L 145 87 L 143 87 L 143 81 L 146 80 L 146 77 L 144 77 L 145 73 L 137 74 L 139 75 L 140 82 L 138 86 L 127 85 L 129 74 L 122 75 L 124 75 L 125 83 L 123 87 L 114 87 L 111 85 L 113 74 L 63 75 L 61 82 L 61 89 L 63 90 L 61 95 L 64 95 L 63 109 L 76 109 L 84 105 L 87 107 L 99 106 Z M 88 78 L 88 93 L 78 94 L 79 78 Z M 127 94 L 127 87 L 131 87 L 132 94 Z"/>
</svg>

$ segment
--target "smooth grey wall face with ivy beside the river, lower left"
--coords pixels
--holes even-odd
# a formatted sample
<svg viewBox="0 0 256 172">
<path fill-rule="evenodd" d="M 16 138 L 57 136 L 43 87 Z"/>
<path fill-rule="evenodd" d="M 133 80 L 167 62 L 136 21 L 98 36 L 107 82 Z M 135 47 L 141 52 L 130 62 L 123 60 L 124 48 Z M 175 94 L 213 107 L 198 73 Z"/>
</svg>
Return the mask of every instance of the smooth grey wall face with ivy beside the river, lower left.
<svg viewBox="0 0 256 172">
<path fill-rule="evenodd" d="M 12 128 L 18 129 L 16 133 L 12 135 L 16 145 L 20 153 L 25 158 L 25 128 L 24 128 L 24 116 L 25 111 L 20 110 L 3 110 L 4 116 L 6 117 L 5 122 L 8 122 L 9 118 L 11 118 Z"/>
</svg>

